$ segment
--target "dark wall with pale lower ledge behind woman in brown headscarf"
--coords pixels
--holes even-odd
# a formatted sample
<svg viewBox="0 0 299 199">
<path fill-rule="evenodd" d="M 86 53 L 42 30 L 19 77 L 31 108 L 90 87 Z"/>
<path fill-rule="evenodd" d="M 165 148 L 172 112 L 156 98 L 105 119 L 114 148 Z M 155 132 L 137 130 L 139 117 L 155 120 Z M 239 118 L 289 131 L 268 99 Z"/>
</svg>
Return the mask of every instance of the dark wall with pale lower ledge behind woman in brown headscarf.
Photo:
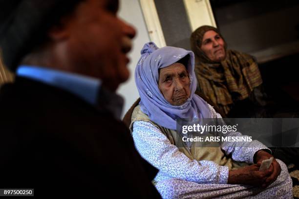
<svg viewBox="0 0 299 199">
<path fill-rule="evenodd" d="M 298 0 L 226 2 L 212 3 L 212 8 L 230 49 L 250 53 L 259 62 L 299 52 Z M 263 58 L 266 56 L 268 60 Z"/>
</svg>

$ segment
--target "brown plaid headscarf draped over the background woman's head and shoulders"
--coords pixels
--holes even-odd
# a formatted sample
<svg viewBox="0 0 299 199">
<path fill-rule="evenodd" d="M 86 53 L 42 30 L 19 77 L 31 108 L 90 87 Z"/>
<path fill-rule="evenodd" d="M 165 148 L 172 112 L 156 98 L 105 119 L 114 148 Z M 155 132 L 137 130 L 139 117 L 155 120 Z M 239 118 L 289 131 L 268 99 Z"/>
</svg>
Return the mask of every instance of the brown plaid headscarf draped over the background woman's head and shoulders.
<svg viewBox="0 0 299 199">
<path fill-rule="evenodd" d="M 201 50 L 203 36 L 210 30 L 223 39 L 217 28 L 208 25 L 197 28 L 191 35 L 198 90 L 228 114 L 234 101 L 248 98 L 254 87 L 262 83 L 262 79 L 253 57 L 227 50 L 225 41 L 225 59 L 220 62 L 210 60 Z"/>
</svg>

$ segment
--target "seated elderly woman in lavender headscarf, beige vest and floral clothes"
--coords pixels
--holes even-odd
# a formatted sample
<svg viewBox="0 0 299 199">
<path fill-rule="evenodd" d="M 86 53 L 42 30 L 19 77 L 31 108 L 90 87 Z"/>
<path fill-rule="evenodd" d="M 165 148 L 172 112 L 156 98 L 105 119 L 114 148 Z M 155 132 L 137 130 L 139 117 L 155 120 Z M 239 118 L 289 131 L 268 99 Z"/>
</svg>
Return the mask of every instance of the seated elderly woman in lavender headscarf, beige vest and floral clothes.
<svg viewBox="0 0 299 199">
<path fill-rule="evenodd" d="M 176 119 L 221 116 L 194 94 L 191 51 L 157 48 L 149 42 L 141 54 L 135 71 L 141 101 L 132 112 L 130 130 L 141 156 L 159 169 L 155 182 L 163 198 L 292 198 L 292 181 L 282 161 L 273 160 L 269 169 L 258 171 L 261 160 L 272 156 L 256 140 L 241 147 L 234 142 L 222 142 L 220 147 L 176 146 Z M 235 166 L 241 162 L 243 167 Z"/>
</svg>

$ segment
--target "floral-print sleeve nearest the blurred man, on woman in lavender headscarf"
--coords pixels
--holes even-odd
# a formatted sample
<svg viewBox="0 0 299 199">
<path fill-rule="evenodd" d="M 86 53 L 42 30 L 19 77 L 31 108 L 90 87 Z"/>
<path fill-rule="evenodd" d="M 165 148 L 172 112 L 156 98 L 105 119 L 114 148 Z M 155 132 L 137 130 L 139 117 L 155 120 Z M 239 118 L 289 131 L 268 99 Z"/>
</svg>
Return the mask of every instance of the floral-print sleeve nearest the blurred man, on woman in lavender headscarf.
<svg viewBox="0 0 299 199">
<path fill-rule="evenodd" d="M 157 181 L 175 178 L 205 184 L 227 183 L 228 167 L 189 159 L 150 122 L 135 121 L 133 139 L 141 156 L 159 169 Z"/>
</svg>

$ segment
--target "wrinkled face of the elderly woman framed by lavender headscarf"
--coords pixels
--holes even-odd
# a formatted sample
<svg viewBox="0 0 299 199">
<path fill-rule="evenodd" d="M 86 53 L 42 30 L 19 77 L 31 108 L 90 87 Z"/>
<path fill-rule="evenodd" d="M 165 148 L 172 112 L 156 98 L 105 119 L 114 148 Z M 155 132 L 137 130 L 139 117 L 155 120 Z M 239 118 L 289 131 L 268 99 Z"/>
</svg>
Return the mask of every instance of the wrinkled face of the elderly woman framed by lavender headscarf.
<svg viewBox="0 0 299 199">
<path fill-rule="evenodd" d="M 182 63 L 162 68 L 159 74 L 159 90 L 171 105 L 179 106 L 190 97 L 190 79 Z"/>
</svg>

